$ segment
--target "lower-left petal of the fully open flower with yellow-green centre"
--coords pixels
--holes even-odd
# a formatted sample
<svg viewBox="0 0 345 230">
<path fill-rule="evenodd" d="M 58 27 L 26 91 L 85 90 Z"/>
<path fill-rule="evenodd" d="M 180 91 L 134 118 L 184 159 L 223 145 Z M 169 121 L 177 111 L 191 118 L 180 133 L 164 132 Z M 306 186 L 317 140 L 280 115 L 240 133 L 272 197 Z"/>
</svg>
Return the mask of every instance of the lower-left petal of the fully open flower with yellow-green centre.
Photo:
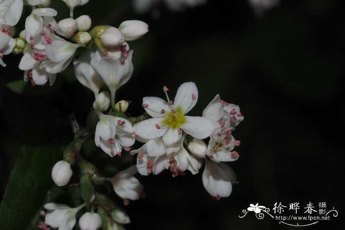
<svg viewBox="0 0 345 230">
<path fill-rule="evenodd" d="M 137 123 L 136 134 L 146 139 L 155 139 L 163 136 L 168 131 L 167 127 L 162 126 L 163 120 L 164 118 L 150 118 Z M 157 129 L 156 125 L 159 125 L 160 129 Z"/>
</svg>

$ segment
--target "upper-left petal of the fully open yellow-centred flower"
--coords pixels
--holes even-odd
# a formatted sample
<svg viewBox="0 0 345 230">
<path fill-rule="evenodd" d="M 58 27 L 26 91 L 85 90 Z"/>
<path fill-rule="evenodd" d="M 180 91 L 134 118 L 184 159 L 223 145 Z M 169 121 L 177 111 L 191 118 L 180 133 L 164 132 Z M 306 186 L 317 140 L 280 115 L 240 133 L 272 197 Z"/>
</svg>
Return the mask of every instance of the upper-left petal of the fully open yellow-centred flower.
<svg viewBox="0 0 345 230">
<path fill-rule="evenodd" d="M 155 117 L 155 118 L 164 117 L 164 113 L 170 112 L 171 110 L 167 101 L 157 98 L 157 97 L 145 97 L 142 99 L 142 103 L 148 104 L 148 107 L 145 108 L 145 111 L 151 117 Z"/>
</svg>

